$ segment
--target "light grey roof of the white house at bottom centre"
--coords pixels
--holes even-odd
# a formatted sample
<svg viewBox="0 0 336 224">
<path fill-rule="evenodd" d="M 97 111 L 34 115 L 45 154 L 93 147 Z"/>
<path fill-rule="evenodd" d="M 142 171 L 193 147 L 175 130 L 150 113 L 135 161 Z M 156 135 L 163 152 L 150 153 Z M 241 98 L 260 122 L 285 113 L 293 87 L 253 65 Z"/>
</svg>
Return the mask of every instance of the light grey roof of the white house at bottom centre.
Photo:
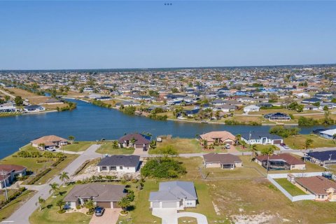
<svg viewBox="0 0 336 224">
<path fill-rule="evenodd" d="M 181 199 L 197 200 L 196 190 L 190 181 L 160 182 L 159 191 L 151 192 L 149 201 L 179 202 Z"/>
</svg>

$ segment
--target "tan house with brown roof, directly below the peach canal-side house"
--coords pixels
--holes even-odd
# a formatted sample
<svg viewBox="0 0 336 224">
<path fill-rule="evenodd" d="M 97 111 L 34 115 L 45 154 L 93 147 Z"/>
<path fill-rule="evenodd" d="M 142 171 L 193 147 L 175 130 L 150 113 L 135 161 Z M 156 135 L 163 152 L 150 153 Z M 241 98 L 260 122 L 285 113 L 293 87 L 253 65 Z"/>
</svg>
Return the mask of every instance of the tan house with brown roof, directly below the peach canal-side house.
<svg viewBox="0 0 336 224">
<path fill-rule="evenodd" d="M 237 155 L 209 153 L 203 155 L 205 168 L 235 169 L 242 167 L 242 162 Z"/>
</svg>

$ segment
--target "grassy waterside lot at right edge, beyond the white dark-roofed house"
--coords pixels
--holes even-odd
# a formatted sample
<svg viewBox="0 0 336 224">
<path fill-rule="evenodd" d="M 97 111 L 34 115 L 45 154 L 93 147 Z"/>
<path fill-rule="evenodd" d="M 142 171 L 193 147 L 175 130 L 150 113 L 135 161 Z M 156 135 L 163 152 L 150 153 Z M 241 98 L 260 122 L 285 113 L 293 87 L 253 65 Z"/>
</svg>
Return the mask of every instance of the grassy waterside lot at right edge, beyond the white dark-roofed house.
<svg viewBox="0 0 336 224">
<path fill-rule="evenodd" d="M 296 136 L 291 136 L 283 139 L 283 142 L 290 148 L 303 149 L 304 143 L 307 139 L 313 140 L 313 144 L 310 148 L 336 147 L 332 140 L 323 139 L 321 137 L 318 137 L 316 134 L 298 134 Z"/>
</svg>

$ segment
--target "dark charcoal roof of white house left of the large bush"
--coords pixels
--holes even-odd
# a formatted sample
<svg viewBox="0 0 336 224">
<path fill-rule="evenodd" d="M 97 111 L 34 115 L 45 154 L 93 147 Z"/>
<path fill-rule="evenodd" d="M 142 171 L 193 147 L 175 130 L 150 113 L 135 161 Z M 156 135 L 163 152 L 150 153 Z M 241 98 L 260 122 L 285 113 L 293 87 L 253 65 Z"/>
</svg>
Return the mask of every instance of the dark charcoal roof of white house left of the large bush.
<svg viewBox="0 0 336 224">
<path fill-rule="evenodd" d="M 100 160 L 98 167 L 102 166 L 124 166 L 124 167 L 138 167 L 139 155 L 111 155 L 106 156 Z"/>
</svg>

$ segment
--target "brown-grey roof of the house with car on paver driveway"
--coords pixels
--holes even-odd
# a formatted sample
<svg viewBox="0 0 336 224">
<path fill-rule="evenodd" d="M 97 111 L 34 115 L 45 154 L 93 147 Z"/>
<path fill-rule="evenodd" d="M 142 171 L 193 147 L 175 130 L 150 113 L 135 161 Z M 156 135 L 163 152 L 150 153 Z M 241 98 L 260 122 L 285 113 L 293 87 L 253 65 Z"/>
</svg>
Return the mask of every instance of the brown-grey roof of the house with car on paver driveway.
<svg viewBox="0 0 336 224">
<path fill-rule="evenodd" d="M 64 197 L 64 202 L 76 202 L 78 197 L 93 197 L 94 202 L 118 202 L 125 195 L 125 186 L 123 185 L 87 183 L 74 186 Z"/>
</svg>

